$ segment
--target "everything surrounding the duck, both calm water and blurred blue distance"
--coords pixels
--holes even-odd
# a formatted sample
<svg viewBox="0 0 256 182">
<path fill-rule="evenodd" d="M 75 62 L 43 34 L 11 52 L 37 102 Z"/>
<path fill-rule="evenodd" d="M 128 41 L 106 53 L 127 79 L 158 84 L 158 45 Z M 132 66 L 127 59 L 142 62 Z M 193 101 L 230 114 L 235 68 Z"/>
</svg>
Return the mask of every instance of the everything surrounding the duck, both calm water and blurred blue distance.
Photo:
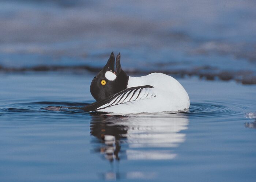
<svg viewBox="0 0 256 182">
<path fill-rule="evenodd" d="M 0 181 L 255 181 L 255 8 L 0 0 Z M 128 75 L 175 77 L 189 111 L 41 109 L 93 102 L 112 51 Z"/>
</svg>

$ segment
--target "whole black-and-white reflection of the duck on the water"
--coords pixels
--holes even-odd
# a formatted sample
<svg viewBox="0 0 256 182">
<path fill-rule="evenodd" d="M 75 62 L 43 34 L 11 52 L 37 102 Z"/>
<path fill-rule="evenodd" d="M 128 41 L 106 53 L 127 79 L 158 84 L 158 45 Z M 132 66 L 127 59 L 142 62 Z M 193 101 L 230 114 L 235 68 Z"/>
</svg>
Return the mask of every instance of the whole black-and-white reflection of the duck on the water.
<svg viewBox="0 0 256 182">
<path fill-rule="evenodd" d="M 109 161 L 173 159 L 174 148 L 185 141 L 188 119 L 180 114 L 141 114 L 113 116 L 92 114 L 91 135 Z M 93 141 L 93 143 L 97 143 Z"/>
</svg>

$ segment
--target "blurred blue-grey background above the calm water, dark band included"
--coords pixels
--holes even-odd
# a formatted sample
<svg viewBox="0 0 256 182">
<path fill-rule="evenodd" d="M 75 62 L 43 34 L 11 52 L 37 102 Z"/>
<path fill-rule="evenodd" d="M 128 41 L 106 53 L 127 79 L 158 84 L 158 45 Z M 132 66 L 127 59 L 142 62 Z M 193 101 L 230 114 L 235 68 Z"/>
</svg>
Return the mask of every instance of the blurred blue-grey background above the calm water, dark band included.
<svg viewBox="0 0 256 182">
<path fill-rule="evenodd" d="M 255 1 L 0 0 L 0 74 L 97 72 L 256 84 Z"/>
</svg>

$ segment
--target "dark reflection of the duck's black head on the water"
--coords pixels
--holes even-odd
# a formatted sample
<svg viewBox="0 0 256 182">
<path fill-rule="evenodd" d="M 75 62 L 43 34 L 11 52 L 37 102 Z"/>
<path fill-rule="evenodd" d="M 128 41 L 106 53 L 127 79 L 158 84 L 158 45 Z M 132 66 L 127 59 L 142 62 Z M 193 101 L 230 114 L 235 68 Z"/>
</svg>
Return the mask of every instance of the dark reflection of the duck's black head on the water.
<svg viewBox="0 0 256 182">
<path fill-rule="evenodd" d="M 91 116 L 90 133 L 103 144 L 103 146 L 95 148 L 94 151 L 103 153 L 105 158 L 110 162 L 119 160 L 118 154 L 121 150 L 120 140 L 127 138 L 128 127 L 125 125 L 116 125 L 115 123 L 125 116 L 117 117 L 95 113 L 91 114 Z"/>
</svg>

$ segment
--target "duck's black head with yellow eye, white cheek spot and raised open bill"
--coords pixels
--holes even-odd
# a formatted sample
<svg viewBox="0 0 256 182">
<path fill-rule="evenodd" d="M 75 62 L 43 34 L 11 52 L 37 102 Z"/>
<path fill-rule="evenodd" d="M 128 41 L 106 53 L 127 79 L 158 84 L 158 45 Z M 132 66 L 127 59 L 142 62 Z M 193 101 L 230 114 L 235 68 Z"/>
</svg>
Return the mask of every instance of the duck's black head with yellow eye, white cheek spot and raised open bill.
<svg viewBox="0 0 256 182">
<path fill-rule="evenodd" d="M 93 78 L 90 91 L 95 100 L 99 101 L 126 89 L 127 84 L 128 76 L 121 68 L 120 53 L 116 57 L 115 69 L 115 57 L 112 52 L 106 65 Z"/>
</svg>

